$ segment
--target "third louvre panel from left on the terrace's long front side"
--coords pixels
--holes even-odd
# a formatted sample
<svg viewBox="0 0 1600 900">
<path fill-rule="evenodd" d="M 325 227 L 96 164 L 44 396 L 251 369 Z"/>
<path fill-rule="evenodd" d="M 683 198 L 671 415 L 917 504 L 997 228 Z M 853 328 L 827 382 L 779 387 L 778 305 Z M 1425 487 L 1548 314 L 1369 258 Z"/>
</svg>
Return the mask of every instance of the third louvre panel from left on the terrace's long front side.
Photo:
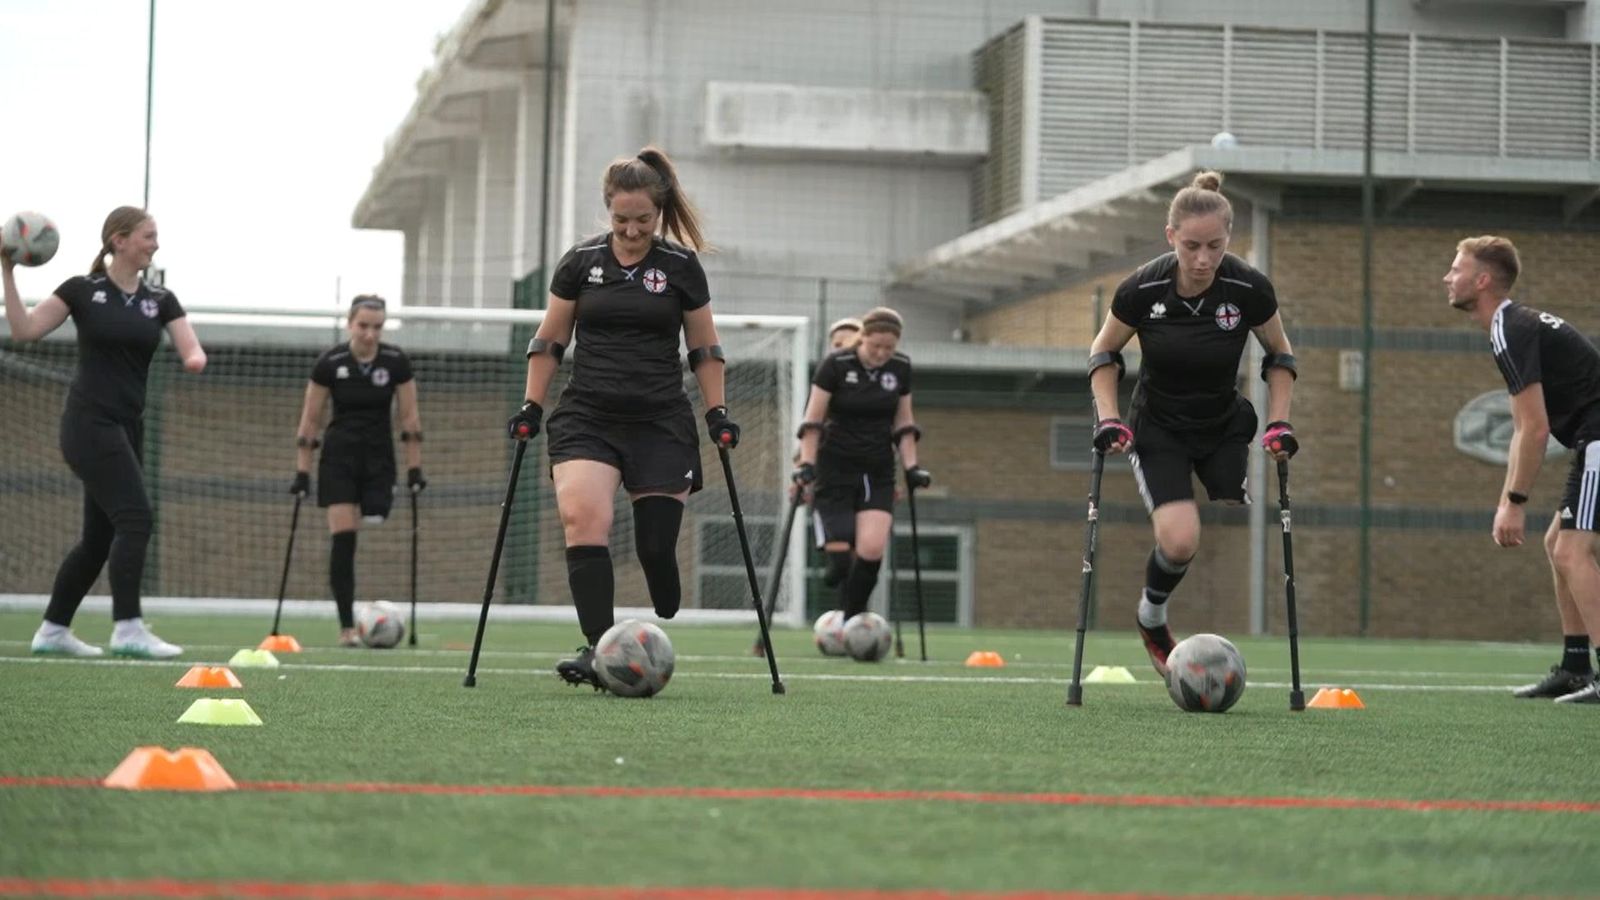
<svg viewBox="0 0 1600 900">
<path fill-rule="evenodd" d="M 1242 144 L 1309 147 L 1317 131 L 1317 35 L 1234 29 L 1229 131 Z"/>
</svg>

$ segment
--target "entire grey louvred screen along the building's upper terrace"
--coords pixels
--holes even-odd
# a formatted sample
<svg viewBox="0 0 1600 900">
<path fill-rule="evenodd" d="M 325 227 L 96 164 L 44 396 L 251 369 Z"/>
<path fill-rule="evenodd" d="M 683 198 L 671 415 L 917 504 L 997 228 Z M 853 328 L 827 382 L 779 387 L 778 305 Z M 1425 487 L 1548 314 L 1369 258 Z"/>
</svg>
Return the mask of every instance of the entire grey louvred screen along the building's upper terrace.
<svg viewBox="0 0 1600 900">
<path fill-rule="evenodd" d="M 974 179 L 979 224 L 1019 208 L 1027 128 L 1038 130 L 1042 199 L 1205 144 L 1224 127 L 1245 146 L 1315 149 L 1320 131 L 1322 149 L 1362 149 L 1363 34 L 1235 27 L 1230 46 L 1224 34 L 1222 26 L 1045 19 L 1038 122 L 1022 120 L 1022 26 L 989 42 L 974 56 L 990 101 L 990 155 Z M 1507 157 L 1589 160 L 1594 53 L 1589 43 L 1512 40 L 1502 70 L 1496 38 L 1379 35 L 1374 147 L 1499 157 L 1504 131 Z"/>
</svg>

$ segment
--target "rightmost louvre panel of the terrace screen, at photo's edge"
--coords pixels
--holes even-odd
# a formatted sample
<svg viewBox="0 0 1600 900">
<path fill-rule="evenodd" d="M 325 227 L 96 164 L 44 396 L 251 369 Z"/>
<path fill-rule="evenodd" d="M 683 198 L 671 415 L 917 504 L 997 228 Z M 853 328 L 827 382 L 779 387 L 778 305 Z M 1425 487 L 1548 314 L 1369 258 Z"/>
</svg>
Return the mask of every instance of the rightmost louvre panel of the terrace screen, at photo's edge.
<svg viewBox="0 0 1600 900">
<path fill-rule="evenodd" d="M 1512 43 L 1506 155 L 1589 157 L 1589 45 Z"/>
</svg>

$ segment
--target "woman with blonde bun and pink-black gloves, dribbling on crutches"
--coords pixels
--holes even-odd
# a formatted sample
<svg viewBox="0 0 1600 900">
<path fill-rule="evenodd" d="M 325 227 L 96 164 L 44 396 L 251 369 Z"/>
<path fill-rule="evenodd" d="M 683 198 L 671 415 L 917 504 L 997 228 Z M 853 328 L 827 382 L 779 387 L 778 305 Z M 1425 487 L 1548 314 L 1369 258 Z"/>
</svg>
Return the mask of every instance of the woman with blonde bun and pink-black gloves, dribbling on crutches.
<svg viewBox="0 0 1600 900">
<path fill-rule="evenodd" d="M 1094 448 L 1128 453 L 1150 512 L 1155 548 L 1144 567 L 1139 634 L 1166 676 L 1173 633 L 1166 601 L 1200 548 L 1200 508 L 1190 474 L 1211 500 L 1250 503 L 1246 463 L 1256 410 L 1238 394 L 1238 359 L 1254 333 L 1266 349 L 1269 420 L 1262 447 L 1275 460 L 1299 450 L 1290 428 L 1294 356 L 1283 335 L 1272 282 L 1227 251 L 1234 208 L 1218 192 L 1222 176 L 1202 171 L 1173 197 L 1166 242 L 1173 251 L 1146 263 L 1117 287 L 1110 315 L 1090 346 L 1090 386 L 1099 423 Z M 1128 424 L 1117 413 L 1122 348 L 1139 335 L 1139 384 Z"/>
</svg>

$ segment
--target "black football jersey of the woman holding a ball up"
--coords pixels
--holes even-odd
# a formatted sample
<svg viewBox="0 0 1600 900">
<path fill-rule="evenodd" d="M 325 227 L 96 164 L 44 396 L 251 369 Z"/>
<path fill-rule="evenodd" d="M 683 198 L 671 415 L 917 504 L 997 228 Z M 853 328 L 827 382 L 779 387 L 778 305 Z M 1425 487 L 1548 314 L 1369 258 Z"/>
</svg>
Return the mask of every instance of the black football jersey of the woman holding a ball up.
<svg viewBox="0 0 1600 900">
<path fill-rule="evenodd" d="M 78 331 L 69 397 L 117 421 L 136 421 L 144 415 L 144 383 L 162 330 L 184 317 L 178 295 L 142 279 L 128 295 L 106 275 L 77 275 L 61 282 L 56 296 L 67 303 Z"/>
</svg>

